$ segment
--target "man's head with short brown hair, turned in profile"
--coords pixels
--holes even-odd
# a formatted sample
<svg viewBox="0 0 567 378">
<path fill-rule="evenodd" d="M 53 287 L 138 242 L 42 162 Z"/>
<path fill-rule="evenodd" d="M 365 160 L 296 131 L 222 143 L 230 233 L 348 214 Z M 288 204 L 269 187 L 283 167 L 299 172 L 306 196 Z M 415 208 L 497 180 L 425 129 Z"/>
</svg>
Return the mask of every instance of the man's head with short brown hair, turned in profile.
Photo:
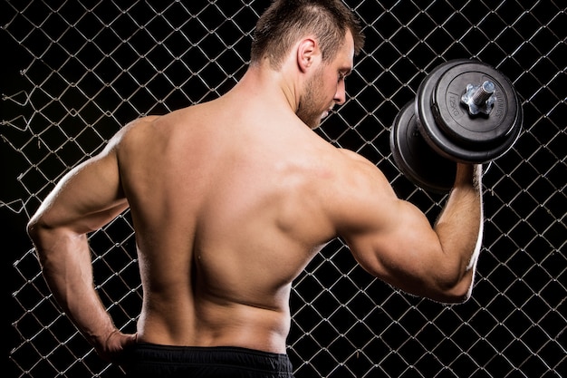
<svg viewBox="0 0 567 378">
<path fill-rule="evenodd" d="M 363 44 L 360 24 L 341 0 L 275 0 L 256 24 L 251 65 L 280 71 L 296 57 L 293 67 L 303 77 L 296 114 L 315 129 L 335 103 L 344 102 L 344 77 Z M 316 64 L 304 62 L 310 53 L 319 55 Z"/>
</svg>

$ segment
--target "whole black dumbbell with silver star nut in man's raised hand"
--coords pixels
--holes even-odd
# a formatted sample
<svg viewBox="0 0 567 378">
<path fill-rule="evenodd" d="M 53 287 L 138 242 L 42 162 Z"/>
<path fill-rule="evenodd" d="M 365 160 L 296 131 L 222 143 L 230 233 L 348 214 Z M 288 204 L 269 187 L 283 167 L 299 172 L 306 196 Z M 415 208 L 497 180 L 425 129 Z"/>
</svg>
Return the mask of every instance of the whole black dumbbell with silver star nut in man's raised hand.
<svg viewBox="0 0 567 378">
<path fill-rule="evenodd" d="M 422 189 L 446 193 L 456 163 L 484 164 L 510 150 L 523 123 L 512 83 L 469 59 L 438 65 L 399 111 L 390 149 L 399 170 Z"/>
</svg>

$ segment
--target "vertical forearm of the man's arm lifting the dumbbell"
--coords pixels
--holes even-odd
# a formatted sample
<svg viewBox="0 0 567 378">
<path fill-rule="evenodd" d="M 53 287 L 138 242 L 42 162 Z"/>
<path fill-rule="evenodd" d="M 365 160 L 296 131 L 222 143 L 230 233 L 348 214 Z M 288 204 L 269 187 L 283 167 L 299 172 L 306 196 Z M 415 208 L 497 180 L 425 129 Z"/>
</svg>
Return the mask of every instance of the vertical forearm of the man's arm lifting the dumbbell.
<svg viewBox="0 0 567 378">
<path fill-rule="evenodd" d="M 457 296 L 470 296 L 483 220 L 481 166 L 457 164 L 454 189 L 435 225 L 444 254 L 456 273 L 452 280 Z"/>
</svg>

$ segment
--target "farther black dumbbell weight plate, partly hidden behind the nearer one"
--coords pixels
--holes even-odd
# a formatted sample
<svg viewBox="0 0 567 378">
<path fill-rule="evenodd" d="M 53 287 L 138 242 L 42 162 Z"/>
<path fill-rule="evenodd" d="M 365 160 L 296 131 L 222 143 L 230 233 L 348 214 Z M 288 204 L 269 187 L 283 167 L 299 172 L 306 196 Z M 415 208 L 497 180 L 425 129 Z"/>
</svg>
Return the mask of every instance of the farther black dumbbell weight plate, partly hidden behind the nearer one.
<svg viewBox="0 0 567 378">
<path fill-rule="evenodd" d="M 456 162 L 437 154 L 418 131 L 414 102 L 408 102 L 392 124 L 390 150 L 399 170 L 422 189 L 447 193 L 455 182 Z"/>
</svg>

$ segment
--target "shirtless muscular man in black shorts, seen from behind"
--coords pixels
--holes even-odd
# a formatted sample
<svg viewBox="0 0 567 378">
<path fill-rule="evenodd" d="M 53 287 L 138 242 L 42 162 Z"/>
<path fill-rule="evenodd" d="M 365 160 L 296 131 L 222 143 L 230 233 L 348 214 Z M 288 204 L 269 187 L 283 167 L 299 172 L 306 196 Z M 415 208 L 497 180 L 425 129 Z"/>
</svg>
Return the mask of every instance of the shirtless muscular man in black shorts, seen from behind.
<svg viewBox="0 0 567 378">
<path fill-rule="evenodd" d="M 101 357 L 136 377 L 292 377 L 292 282 L 334 237 L 408 293 L 470 296 L 479 167 L 458 165 L 432 227 L 374 164 L 312 131 L 345 101 L 362 42 L 340 0 L 276 2 L 234 89 L 132 121 L 43 201 L 28 226 L 43 275 Z M 143 287 L 137 334 L 121 333 L 101 305 L 87 244 L 129 207 Z"/>
</svg>

